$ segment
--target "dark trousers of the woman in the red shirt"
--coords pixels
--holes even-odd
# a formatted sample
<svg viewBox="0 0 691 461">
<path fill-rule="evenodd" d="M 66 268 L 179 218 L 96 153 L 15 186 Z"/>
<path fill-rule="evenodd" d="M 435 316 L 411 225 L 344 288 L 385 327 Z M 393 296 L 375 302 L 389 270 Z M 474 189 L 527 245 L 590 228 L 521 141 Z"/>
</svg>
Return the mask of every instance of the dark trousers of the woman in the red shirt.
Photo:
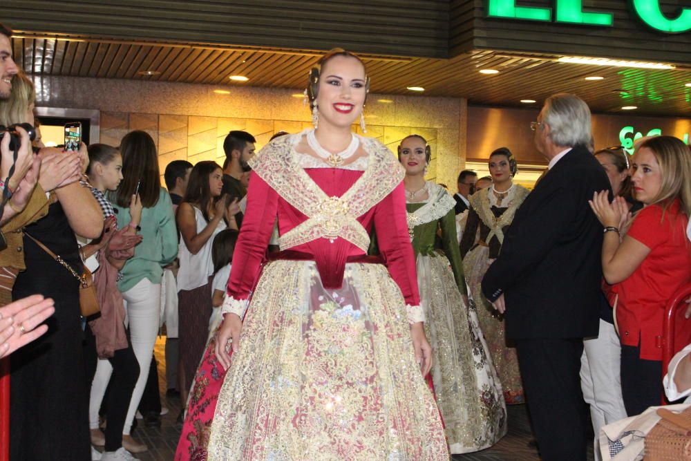
<svg viewBox="0 0 691 461">
<path fill-rule="evenodd" d="M 641 348 L 621 345 L 621 396 L 629 416 L 662 404 L 662 361 L 641 359 Z"/>
</svg>

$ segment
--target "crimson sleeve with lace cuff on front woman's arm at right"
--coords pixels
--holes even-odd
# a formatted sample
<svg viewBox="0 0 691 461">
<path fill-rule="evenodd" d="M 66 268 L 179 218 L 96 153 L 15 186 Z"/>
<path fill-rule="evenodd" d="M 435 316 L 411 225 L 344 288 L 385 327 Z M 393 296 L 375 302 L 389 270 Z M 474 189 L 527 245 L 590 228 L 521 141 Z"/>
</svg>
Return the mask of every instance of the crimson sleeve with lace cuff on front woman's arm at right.
<svg viewBox="0 0 691 461">
<path fill-rule="evenodd" d="M 375 209 L 375 232 L 379 254 L 384 258 L 391 278 L 401 289 L 408 308 L 408 321 L 424 321 L 417 289 L 417 271 L 413 245 L 410 245 L 406 219 L 406 195 L 401 182 Z"/>
</svg>

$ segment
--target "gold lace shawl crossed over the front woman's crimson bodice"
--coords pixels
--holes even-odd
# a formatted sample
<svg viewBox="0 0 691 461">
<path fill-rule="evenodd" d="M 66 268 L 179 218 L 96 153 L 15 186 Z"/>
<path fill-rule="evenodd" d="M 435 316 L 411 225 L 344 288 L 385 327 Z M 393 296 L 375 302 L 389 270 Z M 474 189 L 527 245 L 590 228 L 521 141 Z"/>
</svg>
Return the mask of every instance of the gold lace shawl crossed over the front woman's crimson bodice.
<svg viewBox="0 0 691 461">
<path fill-rule="evenodd" d="M 370 236 L 357 218 L 393 191 L 405 172 L 391 151 L 381 142 L 359 136 L 368 153 L 368 167 L 341 197 L 328 196 L 300 167 L 295 146 L 303 133 L 281 136 L 269 143 L 251 161 L 253 171 L 307 220 L 279 238 L 281 250 L 328 238 L 344 238 L 367 252 Z"/>
</svg>

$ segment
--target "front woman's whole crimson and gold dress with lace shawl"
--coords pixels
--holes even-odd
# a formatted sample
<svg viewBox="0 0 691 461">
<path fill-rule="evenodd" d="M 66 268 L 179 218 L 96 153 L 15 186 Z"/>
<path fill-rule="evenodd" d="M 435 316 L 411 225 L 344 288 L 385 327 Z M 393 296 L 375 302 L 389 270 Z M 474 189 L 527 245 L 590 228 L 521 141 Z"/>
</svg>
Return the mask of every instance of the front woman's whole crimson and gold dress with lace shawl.
<svg viewBox="0 0 691 461">
<path fill-rule="evenodd" d="M 242 316 L 252 299 L 208 459 L 446 461 L 410 338 L 423 317 L 402 169 L 360 137 L 360 160 L 315 163 L 296 151 L 304 135 L 277 138 L 252 165 L 224 310 Z M 262 267 L 276 216 L 284 251 Z M 373 225 L 386 265 L 366 256 Z"/>
</svg>

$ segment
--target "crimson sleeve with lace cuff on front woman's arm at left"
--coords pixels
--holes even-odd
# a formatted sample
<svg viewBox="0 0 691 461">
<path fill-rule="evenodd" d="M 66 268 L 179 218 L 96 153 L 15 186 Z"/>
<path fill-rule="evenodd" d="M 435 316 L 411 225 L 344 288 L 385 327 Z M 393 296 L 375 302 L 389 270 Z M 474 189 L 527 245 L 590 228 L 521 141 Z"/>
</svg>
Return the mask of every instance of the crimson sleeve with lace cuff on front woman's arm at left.
<svg viewBox="0 0 691 461">
<path fill-rule="evenodd" d="M 247 190 L 247 214 L 233 253 L 233 269 L 223 302 L 223 314 L 231 312 L 240 318 L 247 309 L 249 292 L 254 287 L 269 239 L 274 230 L 278 194 L 256 173 L 252 173 Z"/>
</svg>

